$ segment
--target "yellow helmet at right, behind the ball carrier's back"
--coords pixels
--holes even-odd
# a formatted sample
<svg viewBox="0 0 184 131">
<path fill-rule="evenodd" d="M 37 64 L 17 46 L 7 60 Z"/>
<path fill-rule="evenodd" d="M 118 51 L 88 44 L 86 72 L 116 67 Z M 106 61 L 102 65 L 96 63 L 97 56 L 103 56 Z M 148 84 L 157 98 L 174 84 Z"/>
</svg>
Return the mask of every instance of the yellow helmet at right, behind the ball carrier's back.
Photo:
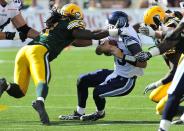
<svg viewBox="0 0 184 131">
<path fill-rule="evenodd" d="M 152 6 L 144 14 L 144 23 L 152 28 L 158 28 L 158 22 L 164 22 L 165 17 L 166 13 L 162 7 Z M 154 18 L 157 18 L 157 20 Z"/>
</svg>

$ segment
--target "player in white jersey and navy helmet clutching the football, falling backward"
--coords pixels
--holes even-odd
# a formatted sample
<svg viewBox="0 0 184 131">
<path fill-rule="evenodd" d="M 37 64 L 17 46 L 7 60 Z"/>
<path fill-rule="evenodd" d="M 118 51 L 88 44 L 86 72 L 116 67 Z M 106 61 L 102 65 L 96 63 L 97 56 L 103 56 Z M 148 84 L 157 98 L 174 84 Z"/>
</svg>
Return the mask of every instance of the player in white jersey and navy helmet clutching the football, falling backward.
<svg viewBox="0 0 184 131">
<path fill-rule="evenodd" d="M 119 28 L 122 34 L 108 37 L 97 49 L 98 55 L 113 55 L 114 70 L 102 69 L 81 75 L 77 82 L 78 106 L 71 115 L 60 115 L 61 120 L 95 121 L 105 116 L 105 97 L 125 96 L 135 86 L 137 76 L 143 75 L 146 62 L 136 62 L 132 56 L 142 51 L 136 31 L 128 24 L 128 16 L 122 11 L 115 11 L 108 17 L 109 28 Z M 126 33 L 127 32 L 127 33 Z M 93 99 L 97 110 L 84 115 L 88 88 L 94 87 Z"/>
</svg>

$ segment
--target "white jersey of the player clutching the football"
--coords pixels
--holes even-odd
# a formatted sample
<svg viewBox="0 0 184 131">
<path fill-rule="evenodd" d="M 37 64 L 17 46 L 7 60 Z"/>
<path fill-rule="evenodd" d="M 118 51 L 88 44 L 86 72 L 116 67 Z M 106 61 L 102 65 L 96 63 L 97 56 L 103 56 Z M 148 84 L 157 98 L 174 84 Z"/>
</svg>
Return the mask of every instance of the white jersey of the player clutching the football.
<svg viewBox="0 0 184 131">
<path fill-rule="evenodd" d="M 122 50 L 124 54 L 132 56 L 127 46 L 131 44 L 139 44 L 141 46 L 141 43 L 133 27 L 129 26 L 128 31 L 129 31 L 128 34 L 131 34 L 131 36 L 124 35 L 124 36 L 119 36 L 118 38 L 109 37 L 109 39 L 116 40 L 118 44 L 118 48 Z M 114 73 L 116 73 L 119 76 L 131 78 L 133 76 L 141 76 L 143 75 L 144 72 L 142 68 L 135 67 L 129 64 L 128 62 L 126 62 L 125 60 L 114 57 Z"/>
</svg>

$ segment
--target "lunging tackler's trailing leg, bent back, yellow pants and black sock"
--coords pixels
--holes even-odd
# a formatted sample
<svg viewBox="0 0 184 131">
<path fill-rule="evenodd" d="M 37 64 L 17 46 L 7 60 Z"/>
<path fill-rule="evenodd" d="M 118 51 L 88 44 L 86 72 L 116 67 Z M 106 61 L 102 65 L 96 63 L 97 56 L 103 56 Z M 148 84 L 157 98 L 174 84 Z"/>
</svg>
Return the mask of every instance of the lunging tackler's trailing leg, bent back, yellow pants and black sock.
<svg viewBox="0 0 184 131">
<path fill-rule="evenodd" d="M 15 69 L 14 69 L 14 83 L 7 83 L 5 79 L 0 80 L 0 90 L 2 85 L 4 85 L 7 93 L 15 98 L 23 97 L 28 88 L 29 84 L 29 69 L 28 61 L 25 57 L 27 47 L 23 47 L 19 50 L 15 59 Z"/>
</svg>

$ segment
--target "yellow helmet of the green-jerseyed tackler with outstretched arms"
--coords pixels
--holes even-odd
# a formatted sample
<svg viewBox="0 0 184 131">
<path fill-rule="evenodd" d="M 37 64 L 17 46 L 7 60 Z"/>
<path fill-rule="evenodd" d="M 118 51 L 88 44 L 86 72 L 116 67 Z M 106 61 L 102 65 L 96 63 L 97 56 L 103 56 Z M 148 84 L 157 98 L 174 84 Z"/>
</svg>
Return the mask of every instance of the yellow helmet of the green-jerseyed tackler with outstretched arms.
<svg viewBox="0 0 184 131">
<path fill-rule="evenodd" d="M 59 13 L 63 16 L 73 17 L 80 20 L 84 18 L 81 8 L 73 3 L 64 5 Z"/>
</svg>

